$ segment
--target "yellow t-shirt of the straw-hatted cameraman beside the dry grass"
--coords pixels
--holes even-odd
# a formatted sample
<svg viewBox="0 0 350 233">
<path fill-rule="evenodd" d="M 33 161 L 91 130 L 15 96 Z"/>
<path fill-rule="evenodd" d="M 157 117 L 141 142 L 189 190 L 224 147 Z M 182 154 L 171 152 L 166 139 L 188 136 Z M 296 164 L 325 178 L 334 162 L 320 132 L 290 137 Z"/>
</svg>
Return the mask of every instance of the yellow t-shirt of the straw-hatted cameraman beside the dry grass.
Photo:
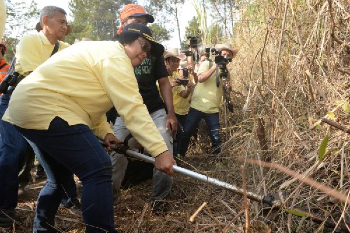
<svg viewBox="0 0 350 233">
<path fill-rule="evenodd" d="M 198 74 L 210 69 L 210 62 L 203 61 L 198 68 Z M 190 107 L 205 113 L 219 112 L 219 106 L 223 95 L 222 87 L 216 86 L 216 72 L 205 82 L 198 82 L 191 99 Z"/>
</svg>

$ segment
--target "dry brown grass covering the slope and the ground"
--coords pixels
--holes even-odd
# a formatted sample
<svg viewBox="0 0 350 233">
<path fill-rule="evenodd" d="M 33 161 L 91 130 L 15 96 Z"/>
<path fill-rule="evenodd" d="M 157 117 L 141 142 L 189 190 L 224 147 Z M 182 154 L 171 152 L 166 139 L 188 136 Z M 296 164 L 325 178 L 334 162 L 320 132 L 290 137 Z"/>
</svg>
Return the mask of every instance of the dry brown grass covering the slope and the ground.
<svg viewBox="0 0 350 233">
<path fill-rule="evenodd" d="M 235 87 L 232 94 L 235 112 L 229 116 L 228 156 L 224 152 L 221 162 L 213 162 L 207 158 L 208 151 L 192 145 L 186 161 L 198 171 L 238 187 L 243 187 L 240 170 L 243 165 L 247 190 L 260 195 L 285 190 L 288 208 L 330 217 L 334 222 L 339 218 L 339 223 L 344 218 L 349 222 L 350 211 L 344 202 L 281 171 L 251 165 L 245 160 L 271 156 L 272 162 L 327 187 L 350 190 L 348 134 L 322 123 L 312 127 L 339 101 L 349 101 L 350 4 L 347 0 L 296 0 L 286 4 L 287 1 L 257 0 L 251 5 L 239 5 L 244 21 L 236 24 L 233 43 L 240 51 L 229 66 Z M 349 113 L 337 108 L 334 114 L 335 120 L 350 128 Z M 267 150 L 261 150 L 258 133 L 263 133 Z M 330 139 L 320 162 L 318 148 L 326 133 Z M 30 187 L 30 200 L 19 203 L 18 212 L 26 217 L 26 222 L 16 225 L 13 232 L 30 232 L 39 191 L 36 186 Z M 248 200 L 245 204 L 243 197 L 182 175 L 174 177 L 170 203 L 173 210 L 148 217 L 145 204 L 151 190 L 152 182 L 148 181 L 123 191 L 115 206 L 115 222 L 120 230 L 339 232 L 285 211 L 277 212 L 272 222 L 262 223 L 258 220 L 262 212 L 260 203 Z M 209 209 L 203 208 L 196 222 L 189 223 L 189 217 L 203 202 L 207 202 Z M 58 226 L 71 226 L 72 233 L 84 232 L 80 217 L 63 209 L 57 216 Z"/>
</svg>

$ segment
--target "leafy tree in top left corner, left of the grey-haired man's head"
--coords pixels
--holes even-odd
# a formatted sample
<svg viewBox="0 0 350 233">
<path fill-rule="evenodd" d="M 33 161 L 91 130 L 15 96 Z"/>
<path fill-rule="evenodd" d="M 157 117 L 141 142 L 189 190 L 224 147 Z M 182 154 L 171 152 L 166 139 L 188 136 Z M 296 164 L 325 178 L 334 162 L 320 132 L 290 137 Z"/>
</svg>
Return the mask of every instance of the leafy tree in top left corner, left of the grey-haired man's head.
<svg viewBox="0 0 350 233">
<path fill-rule="evenodd" d="M 14 57 L 16 45 L 22 36 L 35 28 L 35 24 L 39 21 L 40 11 L 34 1 L 31 1 L 28 6 L 25 2 L 6 0 L 5 5 L 7 9 L 5 58 L 10 61 Z"/>
</svg>

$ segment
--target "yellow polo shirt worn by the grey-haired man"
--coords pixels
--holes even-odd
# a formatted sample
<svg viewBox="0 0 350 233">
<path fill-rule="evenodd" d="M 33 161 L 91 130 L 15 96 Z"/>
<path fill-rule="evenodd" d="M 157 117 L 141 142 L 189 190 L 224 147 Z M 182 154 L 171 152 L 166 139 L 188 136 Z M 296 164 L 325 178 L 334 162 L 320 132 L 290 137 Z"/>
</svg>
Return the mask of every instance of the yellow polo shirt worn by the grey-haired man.
<svg viewBox="0 0 350 233">
<path fill-rule="evenodd" d="M 70 44 L 59 41 L 58 51 L 68 48 Z M 43 31 L 23 36 L 16 48 L 15 71 L 27 76 L 51 56 L 52 45 Z"/>
</svg>

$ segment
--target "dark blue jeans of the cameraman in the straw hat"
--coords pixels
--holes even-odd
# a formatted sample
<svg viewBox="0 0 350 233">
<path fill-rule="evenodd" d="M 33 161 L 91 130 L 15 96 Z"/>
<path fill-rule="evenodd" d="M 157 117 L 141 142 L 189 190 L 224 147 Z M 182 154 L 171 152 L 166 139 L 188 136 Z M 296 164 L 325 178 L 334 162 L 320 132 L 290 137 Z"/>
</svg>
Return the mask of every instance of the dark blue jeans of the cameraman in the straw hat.
<svg viewBox="0 0 350 233">
<path fill-rule="evenodd" d="M 190 108 L 186 117 L 184 132 L 182 132 L 180 141 L 177 144 L 179 154 L 181 156 L 186 155 L 190 138 L 195 133 L 196 127 L 198 126 L 202 118 L 204 119 L 205 123 L 208 126 L 208 134 L 211 140 L 211 148 L 213 150 L 212 154 L 220 153 L 221 139 L 219 134 L 219 129 L 220 129 L 219 113 L 204 113 L 194 108 Z"/>
</svg>

